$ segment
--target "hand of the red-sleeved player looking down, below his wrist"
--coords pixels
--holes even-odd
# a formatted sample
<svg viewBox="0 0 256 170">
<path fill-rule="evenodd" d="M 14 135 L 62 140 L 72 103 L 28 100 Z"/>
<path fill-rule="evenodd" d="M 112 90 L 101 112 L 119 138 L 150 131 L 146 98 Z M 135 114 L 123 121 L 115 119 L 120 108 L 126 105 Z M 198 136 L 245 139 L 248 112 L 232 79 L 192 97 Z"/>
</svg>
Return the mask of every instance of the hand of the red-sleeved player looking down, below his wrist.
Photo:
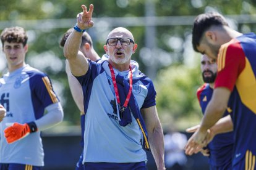
<svg viewBox="0 0 256 170">
<path fill-rule="evenodd" d="M 202 129 L 197 129 L 197 131 L 190 137 L 187 145 L 185 147 L 185 153 L 187 155 L 192 155 L 198 153 L 203 147 L 207 145 L 207 131 L 202 131 Z"/>
</svg>

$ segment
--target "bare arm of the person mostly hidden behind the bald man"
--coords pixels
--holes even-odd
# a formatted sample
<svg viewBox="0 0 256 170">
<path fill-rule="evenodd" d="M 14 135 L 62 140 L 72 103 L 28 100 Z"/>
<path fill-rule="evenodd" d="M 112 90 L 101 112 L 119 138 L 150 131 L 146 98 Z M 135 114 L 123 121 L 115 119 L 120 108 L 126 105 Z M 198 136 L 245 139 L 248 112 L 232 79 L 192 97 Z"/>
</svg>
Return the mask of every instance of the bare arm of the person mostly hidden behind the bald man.
<svg viewBox="0 0 256 170">
<path fill-rule="evenodd" d="M 66 73 L 67 73 L 67 80 L 69 81 L 69 87 L 72 94 L 72 97 L 77 104 L 80 112 L 83 113 L 83 91 L 82 86 L 77 81 L 74 75 L 70 72 L 69 62 L 66 60 Z"/>
</svg>

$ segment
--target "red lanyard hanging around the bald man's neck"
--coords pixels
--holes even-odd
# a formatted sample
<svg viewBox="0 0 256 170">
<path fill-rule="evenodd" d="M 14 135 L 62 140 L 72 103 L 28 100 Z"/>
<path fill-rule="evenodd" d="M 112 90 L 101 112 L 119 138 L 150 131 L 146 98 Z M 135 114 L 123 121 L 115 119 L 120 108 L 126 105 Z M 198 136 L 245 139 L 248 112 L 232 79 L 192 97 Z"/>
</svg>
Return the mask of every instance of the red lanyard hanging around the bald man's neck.
<svg viewBox="0 0 256 170">
<path fill-rule="evenodd" d="M 109 67 L 110 72 L 111 72 L 111 78 L 112 78 L 113 85 L 114 85 L 114 93 L 116 94 L 117 105 L 119 107 L 119 111 L 121 113 L 123 113 L 124 110 L 126 109 L 128 103 L 129 103 L 130 95 L 132 94 L 132 68 L 129 65 L 129 69 L 130 69 L 130 71 L 129 71 L 130 88 L 129 88 L 129 92 L 128 92 L 127 97 L 126 97 L 126 101 L 124 102 L 124 105 L 121 107 L 121 102 L 120 102 L 120 99 L 119 99 L 119 93 L 118 93 L 117 84 L 116 84 L 116 77 L 114 76 L 114 70 L 113 70 L 113 67 L 110 63 L 108 64 L 108 67 Z"/>
</svg>

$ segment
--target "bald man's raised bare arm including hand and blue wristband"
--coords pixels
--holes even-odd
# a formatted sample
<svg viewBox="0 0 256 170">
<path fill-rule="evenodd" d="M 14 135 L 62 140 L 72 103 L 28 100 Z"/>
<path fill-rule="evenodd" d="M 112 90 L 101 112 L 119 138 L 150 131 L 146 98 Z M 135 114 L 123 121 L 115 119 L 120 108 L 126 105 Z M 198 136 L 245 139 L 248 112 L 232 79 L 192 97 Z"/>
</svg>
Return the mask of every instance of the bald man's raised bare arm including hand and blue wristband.
<svg viewBox="0 0 256 170">
<path fill-rule="evenodd" d="M 69 35 L 64 46 L 64 56 L 69 60 L 70 70 L 75 76 L 85 75 L 88 70 L 88 61 L 79 51 L 83 32 L 77 30 L 86 30 L 93 26 L 93 5 L 90 5 L 88 12 L 84 5 L 82 5 L 82 9 L 83 12 L 77 15 L 77 28 Z"/>
</svg>

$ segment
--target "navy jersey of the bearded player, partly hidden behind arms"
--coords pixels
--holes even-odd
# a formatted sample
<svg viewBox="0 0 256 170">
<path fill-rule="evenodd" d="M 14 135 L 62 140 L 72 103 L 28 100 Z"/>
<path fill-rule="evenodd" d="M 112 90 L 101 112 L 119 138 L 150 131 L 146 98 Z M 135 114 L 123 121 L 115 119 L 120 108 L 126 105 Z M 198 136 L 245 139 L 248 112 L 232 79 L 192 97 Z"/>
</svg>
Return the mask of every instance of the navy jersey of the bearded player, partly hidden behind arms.
<svg viewBox="0 0 256 170">
<path fill-rule="evenodd" d="M 211 100 L 212 94 L 213 89 L 208 83 L 203 84 L 203 86 L 197 90 L 197 98 L 203 114 Z M 231 112 L 231 109 L 229 109 L 229 111 Z M 229 111 L 226 110 L 223 117 L 229 115 Z M 209 163 L 218 167 L 231 164 L 233 143 L 233 132 L 216 135 L 207 146 L 210 150 Z"/>
</svg>

